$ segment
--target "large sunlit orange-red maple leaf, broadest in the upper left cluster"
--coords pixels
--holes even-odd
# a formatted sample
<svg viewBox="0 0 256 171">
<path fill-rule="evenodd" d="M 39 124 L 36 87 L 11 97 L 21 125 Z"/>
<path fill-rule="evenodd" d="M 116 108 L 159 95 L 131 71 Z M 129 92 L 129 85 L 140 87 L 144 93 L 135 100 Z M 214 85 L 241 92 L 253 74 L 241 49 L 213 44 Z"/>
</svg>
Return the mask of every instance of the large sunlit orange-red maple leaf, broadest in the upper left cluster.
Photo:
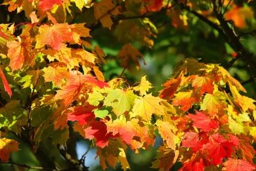
<svg viewBox="0 0 256 171">
<path fill-rule="evenodd" d="M 52 49 L 61 49 L 63 42 L 72 42 L 73 33 L 71 25 L 67 23 L 56 23 L 55 25 L 41 25 L 39 27 L 39 34 L 36 36 L 37 44 L 36 49 L 45 45 L 50 45 Z"/>
</svg>

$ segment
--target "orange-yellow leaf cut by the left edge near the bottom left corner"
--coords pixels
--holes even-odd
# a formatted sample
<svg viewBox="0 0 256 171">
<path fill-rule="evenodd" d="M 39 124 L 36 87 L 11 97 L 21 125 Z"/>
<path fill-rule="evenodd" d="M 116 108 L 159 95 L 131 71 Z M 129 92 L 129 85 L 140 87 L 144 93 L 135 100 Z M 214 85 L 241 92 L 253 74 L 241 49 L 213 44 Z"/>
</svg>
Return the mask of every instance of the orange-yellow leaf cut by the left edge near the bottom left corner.
<svg viewBox="0 0 256 171">
<path fill-rule="evenodd" d="M 18 142 L 8 138 L 0 138 L 0 159 L 3 162 L 8 161 L 10 153 L 18 151 Z"/>
</svg>

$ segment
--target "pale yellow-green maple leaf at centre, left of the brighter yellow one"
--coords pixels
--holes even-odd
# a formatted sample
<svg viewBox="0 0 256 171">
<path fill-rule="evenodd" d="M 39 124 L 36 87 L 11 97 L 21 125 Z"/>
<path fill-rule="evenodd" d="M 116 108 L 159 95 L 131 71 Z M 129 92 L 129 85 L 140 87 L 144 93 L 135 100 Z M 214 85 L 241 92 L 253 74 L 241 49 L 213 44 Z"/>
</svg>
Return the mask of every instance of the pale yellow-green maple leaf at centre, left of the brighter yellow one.
<svg viewBox="0 0 256 171">
<path fill-rule="evenodd" d="M 103 105 L 113 108 L 116 116 L 120 116 L 126 111 L 129 111 L 134 104 L 136 95 L 132 90 L 122 90 L 115 88 L 108 92 L 108 95 L 104 99 Z"/>
</svg>

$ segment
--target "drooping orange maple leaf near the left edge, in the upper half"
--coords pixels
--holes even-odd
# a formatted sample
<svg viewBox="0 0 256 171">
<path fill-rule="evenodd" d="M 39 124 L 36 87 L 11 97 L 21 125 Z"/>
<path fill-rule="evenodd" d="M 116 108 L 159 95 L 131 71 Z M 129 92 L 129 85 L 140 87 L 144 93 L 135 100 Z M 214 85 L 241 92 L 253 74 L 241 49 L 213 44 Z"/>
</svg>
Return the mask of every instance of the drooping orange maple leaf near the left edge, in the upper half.
<svg viewBox="0 0 256 171">
<path fill-rule="evenodd" d="M 10 58 L 10 68 L 12 71 L 22 68 L 24 62 L 31 65 L 33 64 L 33 53 L 31 53 L 31 38 L 22 38 L 18 42 L 7 42 L 8 58 Z"/>
</svg>

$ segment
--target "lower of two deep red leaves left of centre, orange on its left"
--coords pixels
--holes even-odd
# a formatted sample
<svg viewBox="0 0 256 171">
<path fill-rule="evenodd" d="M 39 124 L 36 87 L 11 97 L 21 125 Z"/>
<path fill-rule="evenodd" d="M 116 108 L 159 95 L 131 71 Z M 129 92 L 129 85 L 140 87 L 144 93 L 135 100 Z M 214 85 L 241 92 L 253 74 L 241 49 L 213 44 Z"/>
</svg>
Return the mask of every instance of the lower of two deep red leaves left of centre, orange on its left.
<svg viewBox="0 0 256 171">
<path fill-rule="evenodd" d="M 96 145 L 104 148 L 108 146 L 108 139 L 114 138 L 112 133 L 107 133 L 106 125 L 103 122 L 93 121 L 90 123 L 89 127 L 84 129 L 86 132 L 86 138 L 92 140 L 96 139 Z"/>
</svg>

